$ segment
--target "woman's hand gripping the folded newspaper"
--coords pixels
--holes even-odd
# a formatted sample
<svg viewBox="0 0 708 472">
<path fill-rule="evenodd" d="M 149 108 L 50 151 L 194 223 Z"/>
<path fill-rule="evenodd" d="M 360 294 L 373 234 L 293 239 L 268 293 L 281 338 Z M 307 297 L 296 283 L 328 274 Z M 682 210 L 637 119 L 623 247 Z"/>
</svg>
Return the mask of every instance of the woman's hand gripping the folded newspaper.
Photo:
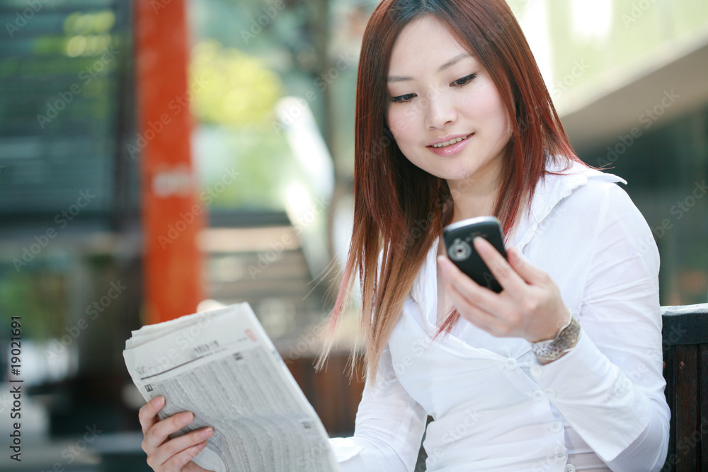
<svg viewBox="0 0 708 472">
<path fill-rule="evenodd" d="M 207 438 L 214 434 L 212 427 L 195 430 L 174 439 L 173 432 L 181 430 L 194 420 L 188 411 L 159 420 L 157 412 L 165 405 L 165 398 L 157 396 L 142 405 L 138 413 L 142 426 L 142 450 L 147 454 L 147 465 L 155 472 L 207 472 L 192 462 L 192 458 L 207 445 Z"/>
</svg>

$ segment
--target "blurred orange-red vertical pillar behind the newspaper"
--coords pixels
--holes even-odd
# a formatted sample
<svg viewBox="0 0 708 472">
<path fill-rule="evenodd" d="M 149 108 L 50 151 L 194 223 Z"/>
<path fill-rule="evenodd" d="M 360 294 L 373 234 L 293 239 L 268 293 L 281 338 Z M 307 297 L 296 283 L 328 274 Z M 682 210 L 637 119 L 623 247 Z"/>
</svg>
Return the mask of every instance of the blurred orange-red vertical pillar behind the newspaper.
<svg viewBox="0 0 708 472">
<path fill-rule="evenodd" d="M 147 318 L 194 313 L 203 299 L 196 237 L 205 214 L 190 156 L 185 0 L 135 0 Z"/>
</svg>

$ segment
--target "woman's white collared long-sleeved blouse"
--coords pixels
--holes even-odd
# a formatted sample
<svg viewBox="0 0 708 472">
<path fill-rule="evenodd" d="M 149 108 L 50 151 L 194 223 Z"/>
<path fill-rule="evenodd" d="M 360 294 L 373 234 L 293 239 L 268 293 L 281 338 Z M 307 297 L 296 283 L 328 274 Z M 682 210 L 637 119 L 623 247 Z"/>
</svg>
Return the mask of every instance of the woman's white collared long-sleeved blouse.
<svg viewBox="0 0 708 472">
<path fill-rule="evenodd" d="M 626 183 L 578 164 L 547 175 L 508 238 L 552 277 L 581 323 L 578 345 L 544 366 L 526 340 L 495 338 L 464 319 L 433 341 L 436 239 L 377 382 L 367 380 L 354 436 L 330 439 L 343 472 L 413 471 L 428 415 L 428 471 L 661 469 L 670 411 L 659 257 L 617 182 Z"/>
</svg>

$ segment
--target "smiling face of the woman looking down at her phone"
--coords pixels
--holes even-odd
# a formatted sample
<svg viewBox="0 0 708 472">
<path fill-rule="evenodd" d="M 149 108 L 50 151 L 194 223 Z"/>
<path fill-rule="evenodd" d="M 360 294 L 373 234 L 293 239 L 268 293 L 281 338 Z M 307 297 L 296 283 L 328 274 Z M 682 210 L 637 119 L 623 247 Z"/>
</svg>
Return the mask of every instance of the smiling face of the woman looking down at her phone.
<svg viewBox="0 0 708 472">
<path fill-rule="evenodd" d="M 446 180 L 499 178 L 508 113 L 489 73 L 445 25 L 423 16 L 401 30 L 387 88 L 387 122 L 409 161 Z"/>
</svg>

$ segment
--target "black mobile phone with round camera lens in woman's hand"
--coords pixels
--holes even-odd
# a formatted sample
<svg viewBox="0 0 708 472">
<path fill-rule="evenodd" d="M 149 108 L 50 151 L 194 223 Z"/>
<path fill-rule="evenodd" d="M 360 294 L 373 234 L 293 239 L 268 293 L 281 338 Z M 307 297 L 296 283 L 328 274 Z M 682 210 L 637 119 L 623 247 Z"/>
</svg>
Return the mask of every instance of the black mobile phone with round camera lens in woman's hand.
<svg viewBox="0 0 708 472">
<path fill-rule="evenodd" d="M 491 243 L 506 259 L 501 221 L 496 217 L 463 219 L 442 229 L 447 257 L 474 282 L 494 292 L 501 292 L 501 285 L 491 274 L 489 267 L 474 249 L 472 239 L 481 236 Z"/>
</svg>

